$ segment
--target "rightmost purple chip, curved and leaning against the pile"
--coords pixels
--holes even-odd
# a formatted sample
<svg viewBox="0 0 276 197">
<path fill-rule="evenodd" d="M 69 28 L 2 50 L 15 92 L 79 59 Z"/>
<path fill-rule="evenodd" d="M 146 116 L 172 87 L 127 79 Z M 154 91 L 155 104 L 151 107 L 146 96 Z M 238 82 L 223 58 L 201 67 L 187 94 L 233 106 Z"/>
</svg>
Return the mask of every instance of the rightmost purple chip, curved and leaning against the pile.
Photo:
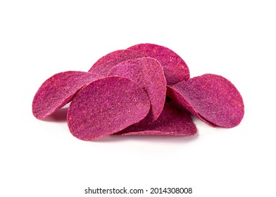
<svg viewBox="0 0 276 197">
<path fill-rule="evenodd" d="M 167 90 L 170 98 L 213 127 L 235 127 L 244 117 L 241 94 L 220 75 L 201 75 Z"/>
</svg>

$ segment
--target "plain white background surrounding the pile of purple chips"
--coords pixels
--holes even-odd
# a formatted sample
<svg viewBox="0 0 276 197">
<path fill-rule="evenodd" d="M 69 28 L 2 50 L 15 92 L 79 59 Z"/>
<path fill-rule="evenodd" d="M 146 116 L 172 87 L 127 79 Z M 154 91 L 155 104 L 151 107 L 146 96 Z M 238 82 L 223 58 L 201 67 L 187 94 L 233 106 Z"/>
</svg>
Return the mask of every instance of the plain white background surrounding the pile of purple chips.
<svg viewBox="0 0 276 197">
<path fill-rule="evenodd" d="M 0 2 L 0 196 L 93 196 L 88 186 L 276 196 L 273 1 Z M 87 71 L 106 53 L 145 42 L 182 56 L 191 77 L 235 84 L 241 124 L 213 128 L 194 117 L 192 137 L 81 141 L 65 120 L 32 116 L 32 98 L 51 75 Z"/>
</svg>

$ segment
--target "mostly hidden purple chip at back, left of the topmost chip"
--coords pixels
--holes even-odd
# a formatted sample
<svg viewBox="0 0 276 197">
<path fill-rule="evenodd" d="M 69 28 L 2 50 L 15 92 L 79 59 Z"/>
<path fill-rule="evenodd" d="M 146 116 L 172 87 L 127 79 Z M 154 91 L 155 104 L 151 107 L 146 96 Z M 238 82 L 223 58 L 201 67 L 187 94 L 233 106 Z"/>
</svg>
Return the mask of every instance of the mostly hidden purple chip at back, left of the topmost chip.
<svg viewBox="0 0 276 197">
<path fill-rule="evenodd" d="M 107 76 L 109 70 L 111 70 L 111 68 L 113 68 L 113 66 L 117 65 L 118 63 L 134 60 L 136 58 L 142 58 L 145 56 L 146 55 L 142 52 L 128 49 L 113 51 L 106 54 L 106 56 L 99 58 L 99 60 L 96 61 L 94 65 L 92 65 L 92 68 L 89 69 L 89 72 Z"/>
</svg>

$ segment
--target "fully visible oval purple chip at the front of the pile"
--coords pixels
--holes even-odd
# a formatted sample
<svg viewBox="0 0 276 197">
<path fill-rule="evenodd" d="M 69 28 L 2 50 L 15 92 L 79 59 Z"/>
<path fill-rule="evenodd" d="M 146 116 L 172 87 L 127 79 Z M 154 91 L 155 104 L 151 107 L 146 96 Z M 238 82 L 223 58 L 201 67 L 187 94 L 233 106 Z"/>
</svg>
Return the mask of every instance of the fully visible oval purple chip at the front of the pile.
<svg viewBox="0 0 276 197">
<path fill-rule="evenodd" d="M 68 127 L 82 140 L 99 139 L 144 119 L 149 97 L 125 77 L 104 77 L 82 88 L 68 108 Z"/>
</svg>

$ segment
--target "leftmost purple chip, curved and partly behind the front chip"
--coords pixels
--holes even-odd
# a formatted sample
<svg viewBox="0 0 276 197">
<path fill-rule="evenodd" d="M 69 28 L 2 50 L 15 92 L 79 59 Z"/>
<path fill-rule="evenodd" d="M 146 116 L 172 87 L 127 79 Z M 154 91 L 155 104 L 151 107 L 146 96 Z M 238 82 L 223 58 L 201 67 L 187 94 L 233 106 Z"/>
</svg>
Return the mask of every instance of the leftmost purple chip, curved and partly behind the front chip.
<svg viewBox="0 0 276 197">
<path fill-rule="evenodd" d="M 89 72 L 59 72 L 39 87 L 32 101 L 32 113 L 39 120 L 51 115 L 69 103 L 84 85 L 101 78 Z"/>
</svg>

